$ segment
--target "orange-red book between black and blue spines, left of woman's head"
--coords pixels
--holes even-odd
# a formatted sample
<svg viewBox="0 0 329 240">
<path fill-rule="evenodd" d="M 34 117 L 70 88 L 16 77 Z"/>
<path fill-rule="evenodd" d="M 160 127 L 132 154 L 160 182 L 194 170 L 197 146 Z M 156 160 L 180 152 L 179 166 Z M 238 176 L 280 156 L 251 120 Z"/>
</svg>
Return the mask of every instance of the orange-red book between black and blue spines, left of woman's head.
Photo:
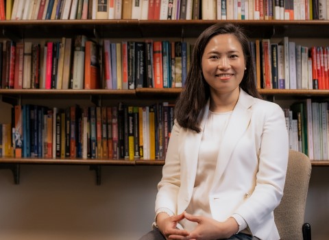
<svg viewBox="0 0 329 240">
<path fill-rule="evenodd" d="M 161 41 L 156 41 L 153 43 L 153 61 L 154 61 L 154 87 L 163 88 Z"/>
</svg>

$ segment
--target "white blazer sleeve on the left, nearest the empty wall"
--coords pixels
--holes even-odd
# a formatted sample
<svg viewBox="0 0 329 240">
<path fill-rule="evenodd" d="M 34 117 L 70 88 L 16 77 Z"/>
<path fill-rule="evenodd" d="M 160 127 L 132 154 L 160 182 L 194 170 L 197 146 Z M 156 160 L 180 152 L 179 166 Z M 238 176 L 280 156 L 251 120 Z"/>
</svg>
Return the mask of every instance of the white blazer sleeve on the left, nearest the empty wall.
<svg viewBox="0 0 329 240">
<path fill-rule="evenodd" d="M 171 130 L 167 155 L 162 168 L 162 179 L 158 183 L 156 195 L 156 211 L 168 208 L 177 215 L 178 191 L 180 189 L 180 125 L 175 121 Z"/>
</svg>

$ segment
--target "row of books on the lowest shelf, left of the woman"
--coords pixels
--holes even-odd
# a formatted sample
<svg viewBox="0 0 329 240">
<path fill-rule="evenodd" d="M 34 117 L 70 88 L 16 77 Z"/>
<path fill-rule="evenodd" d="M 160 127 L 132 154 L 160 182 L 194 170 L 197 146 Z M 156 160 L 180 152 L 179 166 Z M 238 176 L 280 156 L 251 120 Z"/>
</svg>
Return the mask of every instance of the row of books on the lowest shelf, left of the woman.
<svg viewBox="0 0 329 240">
<path fill-rule="evenodd" d="M 3 156 L 38 158 L 164 159 L 173 104 L 71 106 L 25 104 L 2 124 Z"/>
</svg>

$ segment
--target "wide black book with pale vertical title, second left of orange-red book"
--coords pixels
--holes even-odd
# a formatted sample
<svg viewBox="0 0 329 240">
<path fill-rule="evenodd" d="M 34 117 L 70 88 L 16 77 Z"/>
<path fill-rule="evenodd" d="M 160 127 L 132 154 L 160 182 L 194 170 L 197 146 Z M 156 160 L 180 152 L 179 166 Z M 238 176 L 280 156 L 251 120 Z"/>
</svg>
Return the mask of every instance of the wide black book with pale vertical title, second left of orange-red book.
<svg viewBox="0 0 329 240">
<path fill-rule="evenodd" d="M 144 42 L 135 43 L 135 82 L 136 88 L 146 86 Z"/>
</svg>

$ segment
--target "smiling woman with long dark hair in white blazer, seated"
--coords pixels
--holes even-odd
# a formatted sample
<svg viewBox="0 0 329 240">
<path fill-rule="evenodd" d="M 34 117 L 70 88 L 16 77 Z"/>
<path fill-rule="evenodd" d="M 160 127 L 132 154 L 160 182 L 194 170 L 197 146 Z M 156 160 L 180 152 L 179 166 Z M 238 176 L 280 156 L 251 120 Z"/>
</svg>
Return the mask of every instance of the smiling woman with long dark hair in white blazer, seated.
<svg viewBox="0 0 329 240">
<path fill-rule="evenodd" d="M 215 24 L 197 38 L 142 239 L 280 239 L 288 134 L 280 106 L 261 99 L 247 37 Z"/>
</svg>

